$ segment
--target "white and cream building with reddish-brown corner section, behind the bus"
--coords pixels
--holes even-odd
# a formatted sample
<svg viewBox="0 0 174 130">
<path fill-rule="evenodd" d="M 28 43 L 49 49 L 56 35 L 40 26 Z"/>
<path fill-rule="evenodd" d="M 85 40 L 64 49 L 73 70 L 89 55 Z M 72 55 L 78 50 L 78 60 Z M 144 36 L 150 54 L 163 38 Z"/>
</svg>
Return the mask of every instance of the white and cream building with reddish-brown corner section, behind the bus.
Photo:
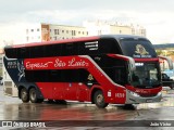
<svg viewBox="0 0 174 130">
<path fill-rule="evenodd" d="M 40 42 L 49 40 L 72 39 L 76 37 L 86 37 L 88 31 L 85 27 L 53 25 L 53 24 L 34 24 L 26 29 L 26 42 Z"/>
</svg>

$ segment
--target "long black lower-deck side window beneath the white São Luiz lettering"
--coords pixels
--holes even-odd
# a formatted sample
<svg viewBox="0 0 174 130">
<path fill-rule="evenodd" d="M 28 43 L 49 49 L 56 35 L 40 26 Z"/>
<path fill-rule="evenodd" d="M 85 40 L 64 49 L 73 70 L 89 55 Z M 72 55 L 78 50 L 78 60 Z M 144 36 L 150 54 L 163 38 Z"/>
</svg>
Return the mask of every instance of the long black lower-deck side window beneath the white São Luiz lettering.
<svg viewBox="0 0 174 130">
<path fill-rule="evenodd" d="M 87 82 L 89 73 L 86 69 L 25 70 L 27 81 L 38 82 Z M 97 82 L 96 79 L 92 79 Z"/>
</svg>

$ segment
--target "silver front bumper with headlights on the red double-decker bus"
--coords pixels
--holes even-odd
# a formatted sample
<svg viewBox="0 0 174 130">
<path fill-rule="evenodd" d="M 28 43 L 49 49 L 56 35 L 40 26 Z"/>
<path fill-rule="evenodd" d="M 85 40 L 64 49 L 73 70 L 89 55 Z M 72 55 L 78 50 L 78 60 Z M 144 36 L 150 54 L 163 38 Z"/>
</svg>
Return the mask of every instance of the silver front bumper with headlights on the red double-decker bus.
<svg viewBox="0 0 174 130">
<path fill-rule="evenodd" d="M 140 96 L 138 93 L 126 90 L 125 104 L 154 103 L 154 102 L 160 102 L 161 99 L 162 99 L 162 92 L 159 92 L 154 96 Z"/>
</svg>

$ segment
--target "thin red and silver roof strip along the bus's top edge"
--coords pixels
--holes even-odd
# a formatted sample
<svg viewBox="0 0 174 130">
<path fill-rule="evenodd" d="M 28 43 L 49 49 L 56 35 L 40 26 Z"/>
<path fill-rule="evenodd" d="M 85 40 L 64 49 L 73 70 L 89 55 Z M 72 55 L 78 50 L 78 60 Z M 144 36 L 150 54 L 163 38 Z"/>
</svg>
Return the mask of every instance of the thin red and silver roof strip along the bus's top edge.
<svg viewBox="0 0 174 130">
<path fill-rule="evenodd" d="M 92 40 L 99 40 L 101 38 L 115 38 L 115 39 L 134 38 L 134 39 L 137 39 L 137 38 L 145 38 L 145 37 L 132 36 L 132 35 L 101 35 L 101 36 L 80 37 L 80 38 L 54 40 L 54 41 L 42 41 L 42 42 L 13 44 L 13 46 L 7 46 L 5 48 L 25 48 L 25 47 L 49 46 L 49 44 L 57 44 L 57 43 L 71 43 L 71 42 L 78 42 L 78 41 L 79 42 L 80 41 L 92 41 Z"/>
</svg>

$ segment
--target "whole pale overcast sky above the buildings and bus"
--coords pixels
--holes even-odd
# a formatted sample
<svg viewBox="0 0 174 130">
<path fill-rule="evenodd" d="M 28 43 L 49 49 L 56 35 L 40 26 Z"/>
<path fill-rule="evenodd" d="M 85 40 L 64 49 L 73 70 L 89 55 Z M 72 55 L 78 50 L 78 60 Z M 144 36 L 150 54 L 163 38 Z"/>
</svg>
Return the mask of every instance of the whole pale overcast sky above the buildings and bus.
<svg viewBox="0 0 174 130">
<path fill-rule="evenodd" d="M 20 38 L 11 28 L 27 23 L 82 26 L 90 20 L 138 24 L 152 43 L 174 43 L 174 0 L 0 0 L 0 39 Z"/>
</svg>

